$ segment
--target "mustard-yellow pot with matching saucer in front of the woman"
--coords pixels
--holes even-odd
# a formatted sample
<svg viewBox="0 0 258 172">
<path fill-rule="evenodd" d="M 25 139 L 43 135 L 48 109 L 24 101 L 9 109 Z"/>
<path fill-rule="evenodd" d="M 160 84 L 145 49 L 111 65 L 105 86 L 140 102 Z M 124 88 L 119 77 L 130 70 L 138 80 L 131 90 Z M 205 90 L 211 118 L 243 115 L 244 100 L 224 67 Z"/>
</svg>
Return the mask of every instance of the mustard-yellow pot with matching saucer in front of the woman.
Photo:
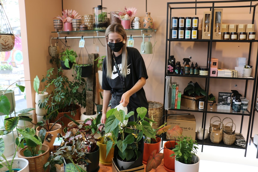
<svg viewBox="0 0 258 172">
<path fill-rule="evenodd" d="M 107 155 L 107 144 L 102 144 L 104 142 L 104 137 L 99 137 L 99 139 L 101 139 L 101 141 L 97 141 L 97 145 L 99 146 L 99 162 L 102 165 L 112 165 L 112 158 L 114 157 L 114 143 Z"/>
</svg>

